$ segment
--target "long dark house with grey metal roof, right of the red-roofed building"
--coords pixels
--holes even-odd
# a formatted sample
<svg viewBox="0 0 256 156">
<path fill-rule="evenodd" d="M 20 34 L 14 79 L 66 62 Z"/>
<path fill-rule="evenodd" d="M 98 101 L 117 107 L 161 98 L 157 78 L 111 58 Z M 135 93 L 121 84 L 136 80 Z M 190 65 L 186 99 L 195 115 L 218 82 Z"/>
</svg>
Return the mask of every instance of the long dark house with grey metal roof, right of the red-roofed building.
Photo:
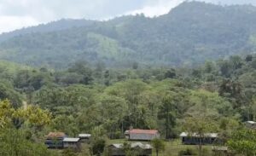
<svg viewBox="0 0 256 156">
<path fill-rule="evenodd" d="M 180 138 L 184 145 L 211 145 L 215 142 L 218 142 L 218 134 L 217 133 L 206 133 L 204 136 L 199 136 L 197 134 L 189 134 L 183 132 L 180 134 Z"/>
</svg>

